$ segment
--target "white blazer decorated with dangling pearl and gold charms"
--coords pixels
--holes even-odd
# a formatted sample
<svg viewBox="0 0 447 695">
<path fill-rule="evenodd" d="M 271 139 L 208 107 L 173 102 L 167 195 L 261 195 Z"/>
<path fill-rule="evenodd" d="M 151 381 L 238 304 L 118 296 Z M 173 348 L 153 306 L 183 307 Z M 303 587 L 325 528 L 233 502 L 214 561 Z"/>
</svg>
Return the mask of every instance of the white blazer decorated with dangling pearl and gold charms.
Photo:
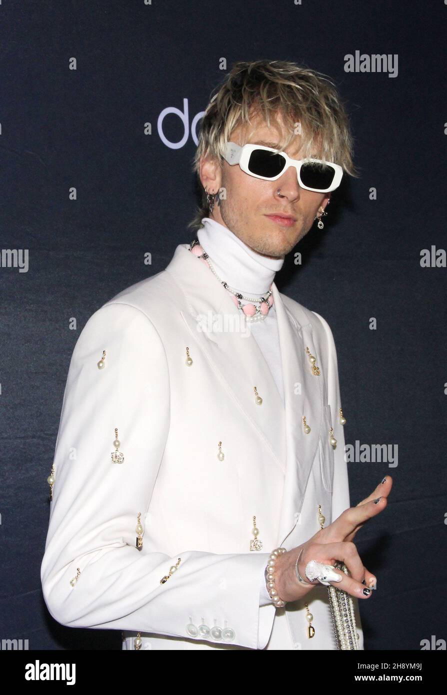
<svg viewBox="0 0 447 695">
<path fill-rule="evenodd" d="M 254 336 L 197 329 L 198 315 L 239 312 L 188 246 L 101 306 L 76 342 L 54 456 L 45 603 L 65 626 L 122 630 L 129 649 L 138 632 L 146 649 L 263 649 L 274 620 L 288 624 L 279 648 L 335 649 L 327 587 L 307 594 L 311 639 L 304 601 L 260 605 L 271 550 L 314 535 L 318 505 L 326 526 L 350 506 L 332 332 L 273 283 L 284 408 Z M 115 427 L 122 463 L 111 459 Z M 253 516 L 261 550 L 250 550 Z"/>
</svg>

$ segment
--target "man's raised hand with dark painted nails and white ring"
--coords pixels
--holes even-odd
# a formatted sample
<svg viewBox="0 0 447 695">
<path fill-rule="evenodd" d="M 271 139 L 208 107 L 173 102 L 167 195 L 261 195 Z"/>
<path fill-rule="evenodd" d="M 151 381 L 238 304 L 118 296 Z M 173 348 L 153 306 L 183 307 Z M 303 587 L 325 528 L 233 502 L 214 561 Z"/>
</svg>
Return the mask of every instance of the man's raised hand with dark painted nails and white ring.
<svg viewBox="0 0 447 695">
<path fill-rule="evenodd" d="M 327 528 L 316 532 L 302 546 L 278 556 L 275 564 L 275 588 L 282 600 L 286 602 L 298 600 L 302 596 L 306 596 L 314 586 L 320 584 L 318 579 L 311 582 L 309 587 L 298 582 L 295 575 L 295 562 L 301 550 L 302 555 L 298 563 L 298 571 L 305 582 L 309 581 L 305 575 L 305 569 L 311 560 L 330 565 L 333 565 L 336 560 L 340 560 L 346 564 L 350 576 L 336 569 L 335 572 L 341 575 L 341 581 L 331 582 L 331 585 L 343 589 L 357 598 L 369 598 L 371 596 L 372 591 L 366 591 L 366 593 L 364 591 L 371 585 L 371 580 L 375 583 L 376 578 L 361 562 L 352 539 L 368 519 L 377 516 L 387 507 L 387 498 L 392 485 L 393 479 L 387 475 L 384 482 L 380 482 L 373 493 L 361 500 L 356 507 L 345 509 L 339 518 L 336 518 Z M 378 498 L 380 500 L 376 502 L 375 500 Z M 361 583 L 364 580 L 366 580 L 366 584 Z"/>
</svg>

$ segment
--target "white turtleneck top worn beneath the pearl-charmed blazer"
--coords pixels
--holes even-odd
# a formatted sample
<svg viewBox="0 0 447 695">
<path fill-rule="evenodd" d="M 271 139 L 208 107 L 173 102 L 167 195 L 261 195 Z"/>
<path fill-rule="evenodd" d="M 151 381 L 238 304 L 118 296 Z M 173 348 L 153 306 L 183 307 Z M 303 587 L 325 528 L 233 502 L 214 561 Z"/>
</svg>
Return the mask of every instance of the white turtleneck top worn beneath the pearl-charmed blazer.
<svg viewBox="0 0 447 695">
<path fill-rule="evenodd" d="M 197 239 L 209 255 L 214 270 L 221 280 L 234 290 L 249 297 L 263 297 L 275 279 L 275 272 L 282 268 L 284 258 L 268 259 L 250 249 L 228 227 L 211 218 L 202 219 L 203 227 L 197 230 Z M 210 271 L 211 272 L 211 271 Z M 241 304 L 249 304 L 241 300 Z M 266 318 L 250 324 L 252 336 L 256 339 L 270 371 L 275 379 L 278 391 L 284 402 L 284 384 L 282 382 L 282 362 L 279 349 L 279 335 L 275 304 L 268 310 Z M 259 605 L 268 605 L 268 595 L 264 573 L 261 575 Z M 284 625 L 282 630 L 286 630 Z"/>
</svg>

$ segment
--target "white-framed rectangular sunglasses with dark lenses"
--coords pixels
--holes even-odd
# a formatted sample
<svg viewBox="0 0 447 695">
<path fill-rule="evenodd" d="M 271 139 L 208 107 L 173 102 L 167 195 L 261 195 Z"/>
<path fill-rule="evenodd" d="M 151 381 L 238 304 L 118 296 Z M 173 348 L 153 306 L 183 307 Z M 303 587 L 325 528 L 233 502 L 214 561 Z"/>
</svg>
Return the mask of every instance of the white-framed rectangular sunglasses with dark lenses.
<svg viewBox="0 0 447 695">
<path fill-rule="evenodd" d="M 296 167 L 301 188 L 315 193 L 330 193 L 335 190 L 340 186 L 343 176 L 343 169 L 339 164 L 311 157 L 291 159 L 285 152 L 263 145 L 250 143 L 241 147 L 236 142 L 227 142 L 224 156 L 231 166 L 238 164 L 245 174 L 265 181 L 276 181 L 288 167 Z"/>
</svg>

